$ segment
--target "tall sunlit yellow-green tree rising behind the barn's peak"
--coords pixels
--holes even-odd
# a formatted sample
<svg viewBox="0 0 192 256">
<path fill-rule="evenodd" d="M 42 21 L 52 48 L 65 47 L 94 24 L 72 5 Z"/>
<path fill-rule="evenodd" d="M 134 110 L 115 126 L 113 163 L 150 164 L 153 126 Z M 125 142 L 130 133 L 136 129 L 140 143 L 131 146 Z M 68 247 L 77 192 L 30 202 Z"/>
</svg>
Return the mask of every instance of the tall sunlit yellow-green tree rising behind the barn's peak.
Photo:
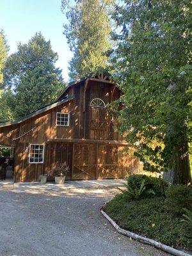
<svg viewBox="0 0 192 256">
<path fill-rule="evenodd" d="M 68 1 L 62 1 L 62 10 L 68 19 L 63 33 L 74 53 L 69 61 L 71 79 L 108 66 L 111 48 L 109 12 L 112 12 L 113 3 L 114 0 L 76 0 L 75 6 L 69 6 Z"/>
</svg>

